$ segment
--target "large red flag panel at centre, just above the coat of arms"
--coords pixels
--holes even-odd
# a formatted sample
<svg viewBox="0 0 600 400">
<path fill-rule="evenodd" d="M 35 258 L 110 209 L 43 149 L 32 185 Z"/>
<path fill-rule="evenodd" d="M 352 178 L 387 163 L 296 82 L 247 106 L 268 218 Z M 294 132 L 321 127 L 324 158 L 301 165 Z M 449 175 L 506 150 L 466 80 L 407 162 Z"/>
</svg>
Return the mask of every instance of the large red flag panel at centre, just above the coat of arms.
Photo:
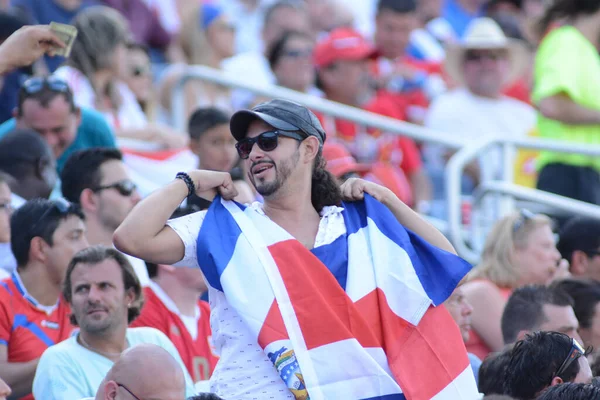
<svg viewBox="0 0 600 400">
<path fill-rule="evenodd" d="M 308 350 L 350 338 L 364 347 L 381 346 L 333 274 L 300 242 L 278 242 L 269 246 L 269 251 L 279 267 Z"/>
</svg>

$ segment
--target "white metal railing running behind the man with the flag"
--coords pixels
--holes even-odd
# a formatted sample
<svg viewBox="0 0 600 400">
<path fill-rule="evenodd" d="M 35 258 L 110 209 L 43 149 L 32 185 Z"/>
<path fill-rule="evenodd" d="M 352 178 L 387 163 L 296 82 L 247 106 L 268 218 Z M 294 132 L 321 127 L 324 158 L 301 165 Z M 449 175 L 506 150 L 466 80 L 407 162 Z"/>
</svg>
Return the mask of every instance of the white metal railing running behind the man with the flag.
<svg viewBox="0 0 600 400">
<path fill-rule="evenodd" d="M 433 220 L 436 227 L 447 234 L 457 251 L 471 262 L 476 262 L 479 255 L 465 242 L 465 232 L 461 221 L 460 182 L 464 168 L 483 151 L 492 146 L 502 147 L 503 172 L 501 182 L 488 182 L 481 188 L 481 193 L 496 193 L 500 196 L 500 211 L 506 212 L 514 208 L 515 199 L 527 199 L 548 206 L 556 207 L 573 214 L 590 217 L 600 216 L 600 207 L 571 200 L 535 189 L 514 185 L 514 154 L 517 148 L 571 152 L 589 156 L 600 156 L 600 146 L 570 144 L 534 138 L 490 138 L 478 142 L 466 142 L 456 135 L 434 131 L 418 125 L 384 117 L 355 107 L 332 102 L 313 95 L 300 93 L 274 85 L 257 85 L 248 79 L 229 76 L 226 73 L 206 66 L 189 67 L 178 80 L 172 90 L 172 121 L 177 128 L 185 130 L 185 96 L 183 89 L 190 80 L 204 80 L 229 88 L 244 89 L 257 96 L 284 98 L 303 104 L 313 111 L 348 120 L 362 126 L 369 126 L 389 133 L 410 137 L 419 142 L 435 143 L 458 151 L 450 158 L 447 169 L 448 222 Z"/>
</svg>

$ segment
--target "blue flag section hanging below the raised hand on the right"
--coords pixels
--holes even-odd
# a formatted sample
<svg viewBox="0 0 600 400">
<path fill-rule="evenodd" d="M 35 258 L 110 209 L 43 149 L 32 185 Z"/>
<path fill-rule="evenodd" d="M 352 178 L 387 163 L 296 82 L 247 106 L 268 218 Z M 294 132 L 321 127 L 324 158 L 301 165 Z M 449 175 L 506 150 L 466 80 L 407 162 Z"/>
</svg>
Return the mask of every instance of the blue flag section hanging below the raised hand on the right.
<svg viewBox="0 0 600 400">
<path fill-rule="evenodd" d="M 392 212 L 369 195 L 365 200 L 344 204 L 348 234 L 367 225 L 367 215 L 377 228 L 408 253 L 423 289 L 434 305 L 442 304 L 460 280 L 471 270 L 471 264 L 455 254 L 441 250 L 410 230 L 399 226 Z"/>
</svg>

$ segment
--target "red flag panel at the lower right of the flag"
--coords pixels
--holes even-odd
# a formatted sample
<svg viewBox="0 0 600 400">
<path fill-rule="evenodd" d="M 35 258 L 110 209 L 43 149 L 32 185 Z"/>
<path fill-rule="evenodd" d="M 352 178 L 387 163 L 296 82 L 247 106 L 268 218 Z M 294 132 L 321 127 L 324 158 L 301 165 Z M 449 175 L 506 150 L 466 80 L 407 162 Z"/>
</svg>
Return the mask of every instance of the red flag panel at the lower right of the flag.
<svg viewBox="0 0 600 400">
<path fill-rule="evenodd" d="M 469 366 L 458 326 L 444 306 L 429 307 L 416 327 L 407 326 L 389 308 L 386 314 L 382 315 L 385 351 L 408 400 L 431 399 Z M 405 329 L 399 335 L 402 325 Z"/>
</svg>

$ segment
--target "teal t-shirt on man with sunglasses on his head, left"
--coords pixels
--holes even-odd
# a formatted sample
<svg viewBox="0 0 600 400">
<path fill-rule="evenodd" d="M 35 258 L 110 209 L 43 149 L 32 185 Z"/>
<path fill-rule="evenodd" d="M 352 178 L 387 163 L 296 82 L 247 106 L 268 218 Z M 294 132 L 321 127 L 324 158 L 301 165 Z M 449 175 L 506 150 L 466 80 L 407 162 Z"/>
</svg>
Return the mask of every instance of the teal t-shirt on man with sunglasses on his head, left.
<svg viewBox="0 0 600 400">
<path fill-rule="evenodd" d="M 0 125 L 0 139 L 16 127 L 14 118 Z M 117 147 L 115 136 L 104 116 L 89 108 L 81 109 L 81 124 L 77 129 L 75 140 L 56 160 L 56 169 L 60 173 L 69 156 L 77 150 L 90 147 Z"/>
</svg>

